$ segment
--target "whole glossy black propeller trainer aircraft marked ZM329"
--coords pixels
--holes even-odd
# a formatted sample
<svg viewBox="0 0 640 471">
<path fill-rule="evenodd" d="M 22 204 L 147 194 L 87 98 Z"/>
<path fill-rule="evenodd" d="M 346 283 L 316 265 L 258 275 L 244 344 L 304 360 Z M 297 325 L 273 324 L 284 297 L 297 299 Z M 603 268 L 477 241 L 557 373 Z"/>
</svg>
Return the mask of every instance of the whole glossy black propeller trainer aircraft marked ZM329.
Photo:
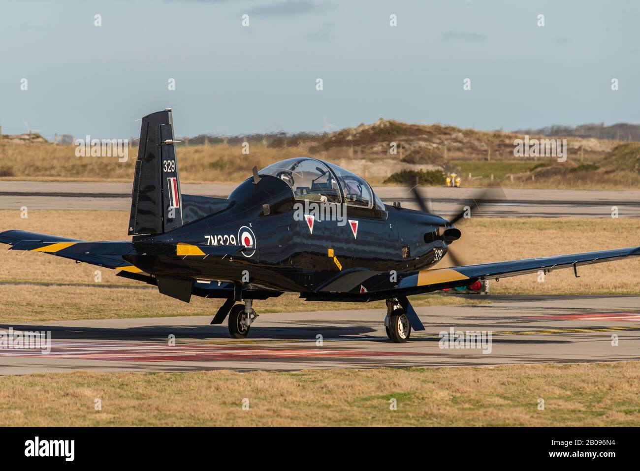
<svg viewBox="0 0 640 471">
<path fill-rule="evenodd" d="M 412 328 L 424 330 L 412 294 L 566 267 L 577 276 L 579 265 L 640 255 L 631 247 L 434 269 L 460 237 L 463 212 L 451 221 L 431 214 L 417 190 L 422 211 L 383 204 L 364 179 L 310 157 L 254 167 L 227 199 L 182 195 L 174 144 L 170 109 L 143 118 L 131 241 L 8 230 L 0 242 L 116 269 L 182 301 L 227 299 L 211 323 L 228 315 L 236 339 L 257 317 L 254 299 L 296 292 L 307 301 L 385 299 L 387 335 L 406 342 Z"/>
</svg>

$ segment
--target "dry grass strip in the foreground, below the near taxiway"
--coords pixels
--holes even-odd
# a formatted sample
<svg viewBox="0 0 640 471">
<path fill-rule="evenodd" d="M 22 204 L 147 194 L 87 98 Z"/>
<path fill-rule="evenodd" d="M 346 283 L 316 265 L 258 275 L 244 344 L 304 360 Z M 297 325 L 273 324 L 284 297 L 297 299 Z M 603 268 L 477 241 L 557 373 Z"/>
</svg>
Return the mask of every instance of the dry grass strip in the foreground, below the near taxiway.
<svg viewBox="0 0 640 471">
<path fill-rule="evenodd" d="M 30 374 L 0 378 L 0 425 L 639 426 L 639 379 L 639 362 Z"/>
</svg>

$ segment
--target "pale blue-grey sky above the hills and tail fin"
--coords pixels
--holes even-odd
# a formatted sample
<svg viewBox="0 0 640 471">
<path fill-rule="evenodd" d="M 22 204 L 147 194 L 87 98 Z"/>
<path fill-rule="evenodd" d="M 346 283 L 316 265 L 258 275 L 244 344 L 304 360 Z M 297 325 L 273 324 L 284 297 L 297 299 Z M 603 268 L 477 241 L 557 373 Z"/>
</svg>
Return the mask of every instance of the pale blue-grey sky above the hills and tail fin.
<svg viewBox="0 0 640 471">
<path fill-rule="evenodd" d="M 179 136 L 635 123 L 639 19 L 637 1 L 0 0 L 0 125 L 128 138 L 168 107 Z"/>
</svg>

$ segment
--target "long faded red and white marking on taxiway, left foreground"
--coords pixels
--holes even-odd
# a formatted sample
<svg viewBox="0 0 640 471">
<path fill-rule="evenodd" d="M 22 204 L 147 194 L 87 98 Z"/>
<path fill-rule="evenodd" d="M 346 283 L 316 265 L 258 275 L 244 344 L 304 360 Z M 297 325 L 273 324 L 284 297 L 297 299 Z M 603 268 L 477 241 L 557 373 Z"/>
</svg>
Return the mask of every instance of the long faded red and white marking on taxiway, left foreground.
<svg viewBox="0 0 640 471">
<path fill-rule="evenodd" d="M 179 344 L 168 346 L 154 342 L 64 342 L 52 340 L 51 353 L 3 350 L 0 356 L 29 358 L 67 358 L 76 360 L 111 360 L 115 362 L 193 362 L 220 360 L 273 360 L 276 358 L 349 358 L 366 356 L 426 355 L 403 351 L 362 351 L 253 346 L 214 346 Z M 429 355 L 435 355 L 431 353 Z"/>
</svg>

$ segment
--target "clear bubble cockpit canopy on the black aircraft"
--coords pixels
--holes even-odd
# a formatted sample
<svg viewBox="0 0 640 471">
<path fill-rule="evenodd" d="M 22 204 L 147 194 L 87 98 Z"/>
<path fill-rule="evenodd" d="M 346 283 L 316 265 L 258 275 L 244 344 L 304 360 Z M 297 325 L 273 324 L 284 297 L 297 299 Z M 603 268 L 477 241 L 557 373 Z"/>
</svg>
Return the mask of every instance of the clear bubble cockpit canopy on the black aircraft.
<svg viewBox="0 0 640 471">
<path fill-rule="evenodd" d="M 271 164 L 258 173 L 286 182 L 296 200 L 345 203 L 364 208 L 371 208 L 375 204 L 380 211 L 385 211 L 385 205 L 364 179 L 318 159 L 287 159 Z"/>
</svg>

